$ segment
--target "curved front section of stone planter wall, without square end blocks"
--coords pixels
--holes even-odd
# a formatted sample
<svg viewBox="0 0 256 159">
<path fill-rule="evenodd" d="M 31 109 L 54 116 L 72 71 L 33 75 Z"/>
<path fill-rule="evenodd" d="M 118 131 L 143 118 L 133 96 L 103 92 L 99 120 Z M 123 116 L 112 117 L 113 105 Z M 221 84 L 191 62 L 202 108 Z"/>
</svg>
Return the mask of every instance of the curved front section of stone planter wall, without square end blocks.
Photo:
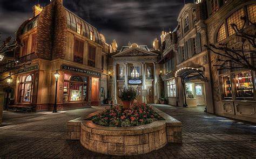
<svg viewBox="0 0 256 159">
<path fill-rule="evenodd" d="M 145 154 L 166 145 L 166 124 L 154 121 L 134 127 L 107 127 L 85 120 L 80 124 L 80 143 L 85 148 L 102 154 Z"/>
</svg>

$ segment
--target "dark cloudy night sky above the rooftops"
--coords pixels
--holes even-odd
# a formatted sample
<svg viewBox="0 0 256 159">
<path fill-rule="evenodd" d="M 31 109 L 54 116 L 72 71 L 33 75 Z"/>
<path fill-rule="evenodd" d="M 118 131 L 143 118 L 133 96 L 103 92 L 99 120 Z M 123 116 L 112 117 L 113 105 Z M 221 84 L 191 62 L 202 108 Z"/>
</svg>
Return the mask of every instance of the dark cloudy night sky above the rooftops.
<svg viewBox="0 0 256 159">
<path fill-rule="evenodd" d="M 18 26 L 32 16 L 35 4 L 47 5 L 50 0 L 0 0 L 0 32 L 2 38 L 14 36 Z M 186 0 L 186 3 L 193 0 Z M 66 8 L 75 12 L 102 32 L 111 43 L 116 39 L 118 48 L 130 41 L 152 47 L 154 38 L 160 40 L 165 28 L 177 26 L 179 11 L 184 0 L 63 0 Z"/>
</svg>

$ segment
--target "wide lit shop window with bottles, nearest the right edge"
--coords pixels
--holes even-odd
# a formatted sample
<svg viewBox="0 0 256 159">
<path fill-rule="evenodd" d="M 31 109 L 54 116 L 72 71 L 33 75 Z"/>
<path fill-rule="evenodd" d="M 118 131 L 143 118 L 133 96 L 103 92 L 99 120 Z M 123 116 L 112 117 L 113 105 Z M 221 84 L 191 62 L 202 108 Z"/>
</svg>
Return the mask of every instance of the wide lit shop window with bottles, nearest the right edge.
<svg viewBox="0 0 256 159">
<path fill-rule="evenodd" d="M 252 71 L 242 71 L 234 74 L 236 99 L 246 100 L 254 98 L 254 84 L 252 76 Z"/>
</svg>

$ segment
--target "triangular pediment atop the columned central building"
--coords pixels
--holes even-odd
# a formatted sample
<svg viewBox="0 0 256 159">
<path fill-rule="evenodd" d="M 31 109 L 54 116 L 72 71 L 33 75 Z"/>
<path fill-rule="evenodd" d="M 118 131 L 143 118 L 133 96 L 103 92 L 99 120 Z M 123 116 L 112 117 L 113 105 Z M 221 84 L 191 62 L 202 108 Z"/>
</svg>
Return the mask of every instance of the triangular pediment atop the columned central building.
<svg viewBox="0 0 256 159">
<path fill-rule="evenodd" d="M 148 50 L 139 48 L 139 47 L 131 47 L 129 49 L 124 50 L 123 52 L 117 53 L 112 57 L 119 56 L 157 56 L 157 53 L 150 52 Z"/>
</svg>

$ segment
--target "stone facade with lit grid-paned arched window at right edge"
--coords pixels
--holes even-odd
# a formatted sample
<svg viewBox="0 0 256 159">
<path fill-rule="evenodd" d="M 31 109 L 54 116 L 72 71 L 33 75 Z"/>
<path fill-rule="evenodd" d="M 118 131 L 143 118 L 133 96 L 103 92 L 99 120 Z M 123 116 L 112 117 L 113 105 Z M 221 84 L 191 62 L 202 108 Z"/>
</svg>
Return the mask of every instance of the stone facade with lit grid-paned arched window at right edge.
<svg viewBox="0 0 256 159">
<path fill-rule="evenodd" d="M 255 1 L 216 1 L 214 5 L 207 1 L 208 19 L 205 21 L 208 30 L 208 44 L 223 43 L 232 48 L 241 47 L 241 38 L 232 30 L 232 23 L 239 28 L 244 24 L 240 19 L 248 17 L 256 22 Z M 255 27 L 245 24 L 247 33 L 255 33 Z M 245 49 L 255 49 L 246 43 Z M 249 55 L 251 56 L 251 55 Z M 212 86 L 215 114 L 225 117 L 256 122 L 255 71 L 235 68 L 234 63 L 218 62 L 219 56 L 211 53 Z M 232 69 L 218 70 L 214 64 L 231 66 Z M 255 66 L 255 60 L 251 61 Z"/>
</svg>

